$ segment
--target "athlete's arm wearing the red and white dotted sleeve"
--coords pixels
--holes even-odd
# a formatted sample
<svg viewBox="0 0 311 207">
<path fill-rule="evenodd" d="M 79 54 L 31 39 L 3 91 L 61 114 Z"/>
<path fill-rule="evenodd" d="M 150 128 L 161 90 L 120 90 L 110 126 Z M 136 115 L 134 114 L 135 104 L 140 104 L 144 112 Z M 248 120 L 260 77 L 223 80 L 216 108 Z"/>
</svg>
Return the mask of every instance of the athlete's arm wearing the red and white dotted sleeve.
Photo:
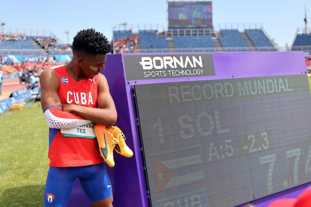
<svg viewBox="0 0 311 207">
<path fill-rule="evenodd" d="M 57 94 L 58 84 L 54 70 L 46 69 L 41 73 L 41 107 L 49 128 L 75 128 L 91 123 L 81 116 L 62 111 L 62 102 Z"/>
</svg>

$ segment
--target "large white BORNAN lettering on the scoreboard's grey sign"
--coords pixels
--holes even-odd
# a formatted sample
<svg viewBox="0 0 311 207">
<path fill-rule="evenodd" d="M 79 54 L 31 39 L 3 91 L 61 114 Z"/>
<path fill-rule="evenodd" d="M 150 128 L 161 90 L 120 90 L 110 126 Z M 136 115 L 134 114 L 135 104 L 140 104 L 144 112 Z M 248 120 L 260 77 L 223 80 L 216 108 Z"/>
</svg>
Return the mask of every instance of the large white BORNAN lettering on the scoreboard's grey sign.
<svg viewBox="0 0 311 207">
<path fill-rule="evenodd" d="M 201 68 L 203 67 L 202 63 L 202 57 L 199 56 L 199 59 L 197 59 L 195 56 L 186 56 L 185 59 L 183 59 L 182 56 L 175 57 L 175 56 L 163 56 L 163 57 L 142 57 L 142 61 L 139 62 L 142 65 L 142 68 L 144 70 L 151 70 L 152 68 L 155 69 L 177 69 L 178 66 L 181 68 L 196 68 L 197 65 Z"/>
</svg>

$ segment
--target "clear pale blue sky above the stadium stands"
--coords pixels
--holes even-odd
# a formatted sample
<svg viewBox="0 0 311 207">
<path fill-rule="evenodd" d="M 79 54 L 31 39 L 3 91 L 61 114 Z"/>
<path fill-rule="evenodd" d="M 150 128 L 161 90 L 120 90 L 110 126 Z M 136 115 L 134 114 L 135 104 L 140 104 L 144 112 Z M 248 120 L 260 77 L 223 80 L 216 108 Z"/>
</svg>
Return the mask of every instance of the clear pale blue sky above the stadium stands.
<svg viewBox="0 0 311 207">
<path fill-rule="evenodd" d="M 307 20 L 311 27 L 310 0 L 213 0 L 212 15 L 214 29 L 243 30 L 262 26 L 270 38 L 280 47 L 292 44 L 297 28 L 304 27 L 304 6 L 307 8 Z M 143 29 L 167 29 L 168 12 L 166 0 L 53 0 L 53 1 L 2 1 L 0 23 L 3 29 L 12 33 L 23 32 L 33 35 L 46 35 L 50 32 L 63 43 L 67 43 L 65 31 L 69 31 L 69 43 L 81 29 L 94 28 L 112 40 L 112 29 L 121 23 L 127 23 L 127 29 L 133 25 L 134 31 Z M 137 26 L 139 25 L 139 26 Z M 301 29 L 300 29 L 301 31 Z"/>
</svg>

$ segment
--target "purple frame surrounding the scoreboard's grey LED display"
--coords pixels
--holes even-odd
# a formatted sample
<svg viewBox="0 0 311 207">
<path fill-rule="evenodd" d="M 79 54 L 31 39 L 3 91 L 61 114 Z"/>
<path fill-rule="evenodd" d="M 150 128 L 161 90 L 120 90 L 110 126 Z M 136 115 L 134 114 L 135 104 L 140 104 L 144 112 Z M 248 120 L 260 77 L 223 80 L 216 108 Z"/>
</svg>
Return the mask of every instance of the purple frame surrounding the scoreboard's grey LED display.
<svg viewBox="0 0 311 207">
<path fill-rule="evenodd" d="M 155 54 L 156 53 L 153 53 L 152 55 Z M 165 53 L 160 53 L 159 55 L 163 54 Z M 177 54 L 181 55 L 189 53 Z M 204 54 L 213 55 L 216 73 L 215 76 L 130 81 L 126 80 L 123 56 L 133 54 L 107 55 L 105 70 L 101 73 L 107 78 L 109 90 L 118 112 L 118 120 L 116 125 L 122 129 L 127 138 L 126 143 L 134 152 L 132 158 L 126 158 L 114 153 L 115 166 L 110 168 L 106 165 L 112 185 L 114 196 L 113 205 L 115 207 L 149 206 L 146 177 L 143 167 L 142 148 L 137 126 L 138 120 L 136 118 L 135 103 L 132 92 L 133 85 L 306 73 L 303 52 L 209 52 Z M 148 54 L 144 53 L 135 55 Z M 309 187 L 310 184 L 311 182 L 305 183 L 285 191 L 253 200 L 252 203 L 258 207 L 264 207 L 273 200 L 287 197 L 297 197 L 305 188 Z M 239 206 L 243 205 L 244 204 Z M 91 203 L 84 194 L 78 179 L 76 179 L 67 206 L 91 206 Z"/>
</svg>

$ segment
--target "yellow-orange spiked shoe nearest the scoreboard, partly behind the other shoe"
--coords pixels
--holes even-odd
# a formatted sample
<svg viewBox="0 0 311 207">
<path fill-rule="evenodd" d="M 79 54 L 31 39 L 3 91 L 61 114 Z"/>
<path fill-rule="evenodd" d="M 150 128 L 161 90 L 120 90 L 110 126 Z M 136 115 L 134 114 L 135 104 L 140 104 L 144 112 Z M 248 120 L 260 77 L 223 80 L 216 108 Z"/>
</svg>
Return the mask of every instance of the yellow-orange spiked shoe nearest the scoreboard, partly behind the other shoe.
<svg viewBox="0 0 311 207">
<path fill-rule="evenodd" d="M 113 133 L 114 137 L 118 139 L 118 143 L 114 146 L 114 150 L 125 157 L 132 157 L 133 151 L 125 144 L 125 136 L 117 126 L 107 127 L 107 130 Z"/>
</svg>

